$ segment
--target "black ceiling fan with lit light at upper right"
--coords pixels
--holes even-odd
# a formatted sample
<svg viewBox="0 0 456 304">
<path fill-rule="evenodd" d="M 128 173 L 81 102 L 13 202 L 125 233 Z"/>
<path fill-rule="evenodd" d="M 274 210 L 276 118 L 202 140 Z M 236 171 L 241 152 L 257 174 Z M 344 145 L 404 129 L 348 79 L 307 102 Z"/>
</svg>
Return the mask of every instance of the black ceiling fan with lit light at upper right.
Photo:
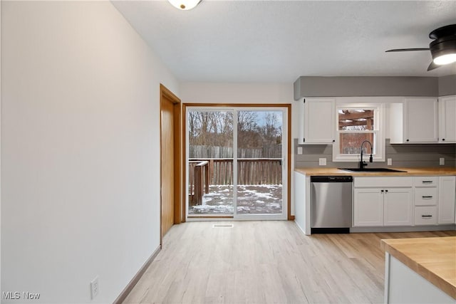
<svg viewBox="0 0 456 304">
<path fill-rule="evenodd" d="M 427 70 L 434 70 L 440 65 L 456 62 L 456 24 L 442 26 L 429 33 L 434 39 L 429 48 L 395 48 L 386 52 L 430 51 L 432 62 Z"/>
</svg>

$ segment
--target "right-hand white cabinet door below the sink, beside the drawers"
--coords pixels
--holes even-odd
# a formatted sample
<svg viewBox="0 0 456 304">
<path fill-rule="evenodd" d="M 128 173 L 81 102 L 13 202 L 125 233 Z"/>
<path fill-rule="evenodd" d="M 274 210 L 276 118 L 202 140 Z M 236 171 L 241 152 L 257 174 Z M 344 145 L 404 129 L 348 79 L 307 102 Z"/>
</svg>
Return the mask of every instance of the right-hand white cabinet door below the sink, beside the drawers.
<svg viewBox="0 0 456 304">
<path fill-rule="evenodd" d="M 385 189 L 383 195 L 385 226 L 413 225 L 413 191 L 411 188 Z"/>
</svg>

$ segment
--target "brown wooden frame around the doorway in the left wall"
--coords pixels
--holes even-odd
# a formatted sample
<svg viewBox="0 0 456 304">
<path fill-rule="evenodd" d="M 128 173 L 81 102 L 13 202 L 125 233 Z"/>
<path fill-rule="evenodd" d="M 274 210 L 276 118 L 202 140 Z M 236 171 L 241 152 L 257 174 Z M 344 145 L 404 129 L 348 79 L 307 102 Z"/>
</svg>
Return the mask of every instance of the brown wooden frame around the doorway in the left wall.
<svg viewBox="0 0 456 304">
<path fill-rule="evenodd" d="M 162 103 L 171 100 L 174 116 L 174 224 L 180 224 L 182 219 L 182 103 L 174 93 L 160 83 L 160 246 L 162 245 Z"/>
</svg>

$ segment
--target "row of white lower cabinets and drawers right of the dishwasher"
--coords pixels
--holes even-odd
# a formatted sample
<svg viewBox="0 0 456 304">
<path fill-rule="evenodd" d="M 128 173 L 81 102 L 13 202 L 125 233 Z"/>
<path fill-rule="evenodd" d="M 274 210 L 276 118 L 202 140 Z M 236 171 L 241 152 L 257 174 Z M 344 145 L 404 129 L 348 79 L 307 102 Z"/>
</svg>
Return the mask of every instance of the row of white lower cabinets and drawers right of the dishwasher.
<svg viewBox="0 0 456 304">
<path fill-rule="evenodd" d="M 455 224 L 456 177 L 355 177 L 353 226 Z"/>
</svg>

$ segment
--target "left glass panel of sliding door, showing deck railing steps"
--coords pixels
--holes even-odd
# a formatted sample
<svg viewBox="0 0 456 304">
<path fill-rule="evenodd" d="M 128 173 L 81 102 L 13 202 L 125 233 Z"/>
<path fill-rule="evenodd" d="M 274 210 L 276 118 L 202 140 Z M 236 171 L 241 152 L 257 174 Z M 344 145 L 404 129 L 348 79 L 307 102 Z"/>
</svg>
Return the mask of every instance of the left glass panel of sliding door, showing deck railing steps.
<svg viewBox="0 0 456 304">
<path fill-rule="evenodd" d="M 234 213 L 233 111 L 187 112 L 187 214 Z"/>
</svg>

